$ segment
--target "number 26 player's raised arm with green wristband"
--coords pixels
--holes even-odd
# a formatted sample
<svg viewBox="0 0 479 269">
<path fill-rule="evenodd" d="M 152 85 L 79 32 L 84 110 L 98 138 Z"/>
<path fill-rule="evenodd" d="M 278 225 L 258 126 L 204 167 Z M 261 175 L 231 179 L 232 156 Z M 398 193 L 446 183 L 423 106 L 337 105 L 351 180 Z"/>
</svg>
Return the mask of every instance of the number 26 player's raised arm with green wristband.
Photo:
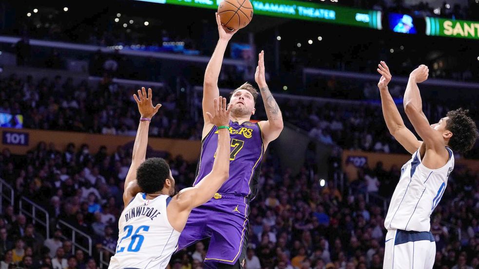
<svg viewBox="0 0 479 269">
<path fill-rule="evenodd" d="M 228 180 L 230 172 L 230 112 L 227 110 L 226 98 L 214 99 L 213 115 L 208 112 L 210 122 L 218 126 L 218 147 L 216 158 L 210 174 L 194 187 L 181 190 L 173 197 L 168 206 L 168 219 L 172 227 L 181 232 L 185 227 L 188 215 L 194 207 L 206 203 Z"/>
</svg>

